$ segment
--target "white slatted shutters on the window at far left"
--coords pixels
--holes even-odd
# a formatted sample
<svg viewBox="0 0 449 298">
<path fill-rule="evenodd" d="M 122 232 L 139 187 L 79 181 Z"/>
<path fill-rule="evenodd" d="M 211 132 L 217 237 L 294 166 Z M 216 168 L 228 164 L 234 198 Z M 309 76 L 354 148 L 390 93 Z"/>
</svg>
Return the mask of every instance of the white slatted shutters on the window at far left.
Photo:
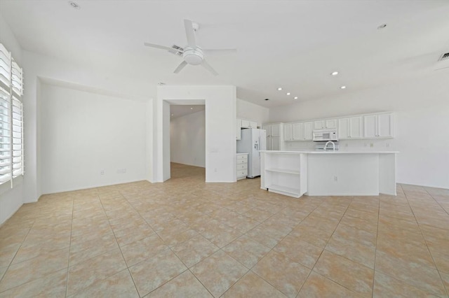
<svg viewBox="0 0 449 298">
<path fill-rule="evenodd" d="M 0 43 L 0 184 L 23 175 L 23 75 Z"/>
</svg>

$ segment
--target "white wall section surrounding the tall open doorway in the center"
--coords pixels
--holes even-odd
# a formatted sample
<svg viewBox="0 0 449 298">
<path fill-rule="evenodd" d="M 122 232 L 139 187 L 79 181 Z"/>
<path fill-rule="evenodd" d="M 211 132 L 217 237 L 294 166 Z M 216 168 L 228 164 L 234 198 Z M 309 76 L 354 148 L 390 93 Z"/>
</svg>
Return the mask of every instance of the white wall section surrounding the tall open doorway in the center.
<svg viewBox="0 0 449 298">
<path fill-rule="evenodd" d="M 158 86 L 155 127 L 155 176 L 161 182 L 170 178 L 170 104 L 181 101 L 206 104 L 206 182 L 236 181 L 236 87 L 235 86 Z"/>
</svg>

